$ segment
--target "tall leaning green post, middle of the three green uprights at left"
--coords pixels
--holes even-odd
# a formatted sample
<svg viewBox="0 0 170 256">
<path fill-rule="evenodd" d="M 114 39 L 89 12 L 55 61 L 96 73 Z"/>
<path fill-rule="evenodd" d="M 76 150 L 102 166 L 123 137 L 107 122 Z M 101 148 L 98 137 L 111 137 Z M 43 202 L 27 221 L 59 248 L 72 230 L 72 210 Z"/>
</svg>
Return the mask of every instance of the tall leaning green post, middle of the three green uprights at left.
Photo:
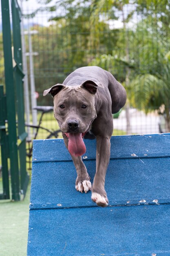
<svg viewBox="0 0 170 256">
<path fill-rule="evenodd" d="M 15 117 L 15 90 L 13 83 L 13 65 L 11 51 L 11 27 L 9 17 L 9 1 L 1 0 L 2 35 L 4 50 L 4 74 L 7 95 L 7 120 L 9 133 L 9 157 L 11 170 L 11 193 L 13 200 L 20 200 L 20 180 L 18 172 L 18 148 Z"/>
</svg>

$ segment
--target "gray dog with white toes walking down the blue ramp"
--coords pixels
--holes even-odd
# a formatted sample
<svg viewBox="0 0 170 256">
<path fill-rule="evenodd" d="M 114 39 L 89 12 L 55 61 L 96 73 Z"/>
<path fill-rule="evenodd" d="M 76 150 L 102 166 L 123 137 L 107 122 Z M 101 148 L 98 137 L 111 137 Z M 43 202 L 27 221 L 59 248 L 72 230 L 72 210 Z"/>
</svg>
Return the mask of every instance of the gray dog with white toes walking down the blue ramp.
<svg viewBox="0 0 170 256">
<path fill-rule="evenodd" d="M 100 67 L 80 67 L 67 76 L 63 84 L 54 85 L 43 95 L 48 93 L 53 97 L 54 117 L 77 171 L 75 189 L 81 193 L 92 189 L 92 200 L 106 207 L 104 184 L 110 159 L 112 113 L 117 113 L 126 103 L 124 87 Z M 82 162 L 81 156 L 86 152 L 83 138 L 97 140 L 93 186 Z"/>
</svg>

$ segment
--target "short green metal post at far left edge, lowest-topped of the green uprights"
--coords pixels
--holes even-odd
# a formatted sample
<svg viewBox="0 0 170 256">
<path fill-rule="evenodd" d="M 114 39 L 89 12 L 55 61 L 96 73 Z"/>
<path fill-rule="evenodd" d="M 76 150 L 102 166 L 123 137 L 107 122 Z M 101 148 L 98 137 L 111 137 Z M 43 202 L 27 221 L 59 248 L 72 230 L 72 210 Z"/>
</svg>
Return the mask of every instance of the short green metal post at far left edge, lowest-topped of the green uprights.
<svg viewBox="0 0 170 256">
<path fill-rule="evenodd" d="M 6 112 L 6 96 L 3 92 L 3 85 L 0 85 L 0 148 L 1 148 L 1 162 L 2 162 L 2 187 L 3 193 L 0 193 L 0 199 L 9 199 L 9 175 L 8 175 L 8 138 L 5 127 L 5 120 L 7 119 Z"/>
</svg>

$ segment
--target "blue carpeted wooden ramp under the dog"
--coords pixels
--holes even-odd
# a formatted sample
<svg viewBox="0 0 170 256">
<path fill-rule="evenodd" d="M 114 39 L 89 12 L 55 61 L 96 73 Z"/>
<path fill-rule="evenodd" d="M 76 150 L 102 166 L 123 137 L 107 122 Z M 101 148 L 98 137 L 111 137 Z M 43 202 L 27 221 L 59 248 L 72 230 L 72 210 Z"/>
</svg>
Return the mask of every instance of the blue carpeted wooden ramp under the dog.
<svg viewBox="0 0 170 256">
<path fill-rule="evenodd" d="M 85 144 L 93 182 L 96 144 Z M 75 179 L 62 139 L 33 142 L 28 256 L 170 255 L 170 134 L 112 137 L 106 208 Z"/>
</svg>

